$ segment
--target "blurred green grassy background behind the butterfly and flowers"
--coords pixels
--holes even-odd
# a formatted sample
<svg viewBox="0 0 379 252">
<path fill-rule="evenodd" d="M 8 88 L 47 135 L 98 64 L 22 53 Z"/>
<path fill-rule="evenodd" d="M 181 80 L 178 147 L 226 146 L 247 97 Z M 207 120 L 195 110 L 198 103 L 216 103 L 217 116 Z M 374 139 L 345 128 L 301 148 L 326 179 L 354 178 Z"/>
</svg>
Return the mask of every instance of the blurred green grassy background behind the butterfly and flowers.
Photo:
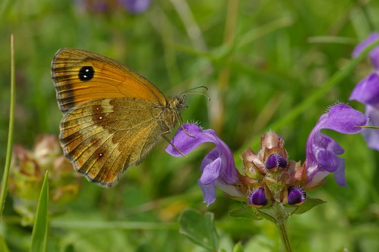
<svg viewBox="0 0 379 252">
<path fill-rule="evenodd" d="M 84 1 L 86 2 L 86 1 Z M 2 0 L 0 2 L 0 164 L 5 162 L 10 93 L 10 34 L 15 36 L 15 144 L 31 148 L 37 135 L 59 133 L 62 114 L 50 76 L 62 47 L 97 52 L 129 66 L 166 96 L 209 87 L 211 101 L 189 96 L 184 120 L 215 129 L 238 156 L 294 107 L 322 88 L 351 59 L 354 46 L 379 30 L 379 2 L 369 0 L 152 0 L 131 14 L 99 1 Z M 84 4 L 83 4 L 84 3 Z M 276 133 L 290 158 L 305 159 L 306 138 L 326 107 L 347 102 L 355 84 L 371 71 L 361 61 L 344 81 L 328 89 Z M 364 111 L 357 102 L 350 105 Z M 327 204 L 293 216 L 288 224 L 295 251 L 379 251 L 378 153 L 361 135 L 328 132 L 346 150 L 348 187 L 329 176 L 312 192 Z M 253 141 L 253 142 L 252 142 Z M 161 141 L 113 188 L 82 178 L 78 197 L 51 217 L 48 251 L 202 251 L 178 233 L 177 216 L 187 207 L 215 214 L 221 248 L 242 241 L 246 251 L 280 251 L 275 226 L 231 219 L 239 202 L 219 194 L 210 207 L 197 185 L 204 144 L 175 158 Z M 241 167 L 241 161 L 236 160 Z M 74 172 L 74 171 L 72 171 Z M 39 190 L 39 188 L 38 188 Z M 54 204 L 54 202 L 52 203 Z M 0 233 L 11 251 L 27 251 L 31 227 L 21 226 L 7 196 Z"/>
</svg>

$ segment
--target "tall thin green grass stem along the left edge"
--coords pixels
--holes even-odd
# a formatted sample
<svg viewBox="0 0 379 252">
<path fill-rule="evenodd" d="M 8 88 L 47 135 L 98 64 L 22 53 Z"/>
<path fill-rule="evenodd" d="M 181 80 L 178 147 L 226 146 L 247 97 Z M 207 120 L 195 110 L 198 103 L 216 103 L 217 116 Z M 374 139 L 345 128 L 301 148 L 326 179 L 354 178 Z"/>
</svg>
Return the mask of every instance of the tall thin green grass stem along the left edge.
<svg viewBox="0 0 379 252">
<path fill-rule="evenodd" d="M 9 110 L 7 156 L 5 159 L 2 192 L 0 195 L 0 219 L 3 216 L 5 196 L 7 194 L 7 187 L 8 187 L 9 168 L 11 166 L 14 117 L 15 117 L 15 51 L 14 51 L 13 34 L 11 34 L 11 104 L 10 104 L 10 110 Z"/>
</svg>

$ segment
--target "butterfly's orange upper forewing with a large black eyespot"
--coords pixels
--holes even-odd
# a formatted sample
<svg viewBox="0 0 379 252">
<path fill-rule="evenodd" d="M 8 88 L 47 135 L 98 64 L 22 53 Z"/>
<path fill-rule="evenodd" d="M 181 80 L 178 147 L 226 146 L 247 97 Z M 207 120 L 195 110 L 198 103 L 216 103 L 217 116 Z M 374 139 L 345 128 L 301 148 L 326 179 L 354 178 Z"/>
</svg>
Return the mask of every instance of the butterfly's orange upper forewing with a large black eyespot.
<svg viewBox="0 0 379 252">
<path fill-rule="evenodd" d="M 136 97 L 165 106 L 166 97 L 147 79 L 97 53 L 62 48 L 52 61 L 52 77 L 62 113 L 99 98 Z"/>
</svg>

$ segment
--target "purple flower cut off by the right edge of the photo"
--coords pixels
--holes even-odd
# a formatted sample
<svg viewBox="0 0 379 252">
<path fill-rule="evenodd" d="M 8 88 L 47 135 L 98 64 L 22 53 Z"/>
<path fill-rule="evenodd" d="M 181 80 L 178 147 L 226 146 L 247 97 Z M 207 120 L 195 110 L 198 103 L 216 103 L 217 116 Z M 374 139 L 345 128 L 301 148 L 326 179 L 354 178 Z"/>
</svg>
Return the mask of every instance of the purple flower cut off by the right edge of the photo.
<svg viewBox="0 0 379 252">
<path fill-rule="evenodd" d="M 367 45 L 379 39 L 379 33 L 372 33 L 365 41 L 357 45 L 353 51 L 356 57 Z M 369 126 L 379 125 L 379 46 L 369 53 L 374 71 L 355 86 L 349 99 L 357 100 L 366 105 L 365 114 L 370 118 Z M 379 151 L 379 131 L 364 129 L 362 135 L 368 147 Z"/>
</svg>

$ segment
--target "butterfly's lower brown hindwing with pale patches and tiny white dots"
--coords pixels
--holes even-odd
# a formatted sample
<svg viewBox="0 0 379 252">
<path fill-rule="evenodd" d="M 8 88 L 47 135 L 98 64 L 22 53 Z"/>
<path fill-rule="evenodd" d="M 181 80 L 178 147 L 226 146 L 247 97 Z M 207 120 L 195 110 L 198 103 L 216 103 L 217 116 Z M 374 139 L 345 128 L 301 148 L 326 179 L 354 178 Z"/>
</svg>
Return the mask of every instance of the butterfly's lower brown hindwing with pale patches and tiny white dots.
<svg viewBox="0 0 379 252">
<path fill-rule="evenodd" d="M 60 141 L 76 171 L 104 187 L 140 163 L 166 129 L 162 108 L 139 98 L 90 100 L 72 108 L 61 122 Z"/>
</svg>

